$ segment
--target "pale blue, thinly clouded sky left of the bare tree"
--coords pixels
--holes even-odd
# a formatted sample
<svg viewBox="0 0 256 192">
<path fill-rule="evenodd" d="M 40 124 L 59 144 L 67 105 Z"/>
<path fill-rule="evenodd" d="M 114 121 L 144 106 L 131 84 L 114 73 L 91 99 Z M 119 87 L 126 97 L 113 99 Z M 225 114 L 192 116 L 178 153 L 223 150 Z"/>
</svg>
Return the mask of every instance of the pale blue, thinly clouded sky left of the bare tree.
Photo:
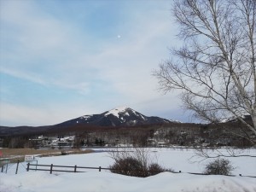
<svg viewBox="0 0 256 192">
<path fill-rule="evenodd" d="M 0 0 L 0 125 L 126 106 L 189 122 L 152 75 L 180 44 L 172 0 Z"/>
</svg>

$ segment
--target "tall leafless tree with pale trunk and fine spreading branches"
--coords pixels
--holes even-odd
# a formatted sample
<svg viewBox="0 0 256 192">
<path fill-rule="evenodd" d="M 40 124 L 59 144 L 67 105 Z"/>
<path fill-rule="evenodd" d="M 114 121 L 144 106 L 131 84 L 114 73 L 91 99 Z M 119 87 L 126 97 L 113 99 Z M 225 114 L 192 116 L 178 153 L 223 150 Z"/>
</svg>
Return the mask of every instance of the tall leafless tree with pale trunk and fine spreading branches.
<svg viewBox="0 0 256 192">
<path fill-rule="evenodd" d="M 184 107 L 202 120 L 236 117 L 255 144 L 256 1 L 174 0 L 172 12 L 184 45 L 154 71 L 160 90 L 183 90 Z"/>
</svg>

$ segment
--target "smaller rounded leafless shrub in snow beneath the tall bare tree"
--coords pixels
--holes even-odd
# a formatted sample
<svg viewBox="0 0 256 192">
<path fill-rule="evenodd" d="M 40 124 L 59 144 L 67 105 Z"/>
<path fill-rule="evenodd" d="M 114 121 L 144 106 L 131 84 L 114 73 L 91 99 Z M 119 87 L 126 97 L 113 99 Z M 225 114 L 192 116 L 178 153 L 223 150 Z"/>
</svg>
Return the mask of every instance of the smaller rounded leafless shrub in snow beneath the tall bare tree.
<svg viewBox="0 0 256 192">
<path fill-rule="evenodd" d="M 205 174 L 209 175 L 230 175 L 235 170 L 230 160 L 217 159 L 210 162 L 205 168 Z"/>
</svg>

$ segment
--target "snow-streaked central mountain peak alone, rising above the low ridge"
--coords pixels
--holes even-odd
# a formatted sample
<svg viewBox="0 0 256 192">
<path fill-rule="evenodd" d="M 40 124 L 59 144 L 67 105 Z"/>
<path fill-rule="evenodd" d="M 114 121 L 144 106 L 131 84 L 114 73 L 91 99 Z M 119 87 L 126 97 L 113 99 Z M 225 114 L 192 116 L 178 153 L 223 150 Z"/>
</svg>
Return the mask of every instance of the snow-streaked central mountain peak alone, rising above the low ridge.
<svg viewBox="0 0 256 192">
<path fill-rule="evenodd" d="M 149 125 L 171 123 L 168 119 L 148 117 L 137 111 L 121 107 L 113 108 L 100 114 L 84 115 L 76 119 L 67 120 L 56 126 L 67 127 L 72 125 L 120 126 L 120 125 Z"/>
</svg>

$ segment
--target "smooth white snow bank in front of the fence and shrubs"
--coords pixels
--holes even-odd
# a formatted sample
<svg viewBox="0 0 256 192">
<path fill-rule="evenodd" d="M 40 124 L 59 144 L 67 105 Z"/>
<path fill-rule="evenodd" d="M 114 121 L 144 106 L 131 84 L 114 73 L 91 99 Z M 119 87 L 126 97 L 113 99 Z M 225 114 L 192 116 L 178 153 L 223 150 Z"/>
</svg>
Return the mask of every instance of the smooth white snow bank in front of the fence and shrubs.
<svg viewBox="0 0 256 192">
<path fill-rule="evenodd" d="M 255 192 L 255 178 L 195 176 L 163 172 L 153 177 L 128 177 L 110 172 L 64 173 L 23 172 L 0 175 L 1 192 Z"/>
</svg>

